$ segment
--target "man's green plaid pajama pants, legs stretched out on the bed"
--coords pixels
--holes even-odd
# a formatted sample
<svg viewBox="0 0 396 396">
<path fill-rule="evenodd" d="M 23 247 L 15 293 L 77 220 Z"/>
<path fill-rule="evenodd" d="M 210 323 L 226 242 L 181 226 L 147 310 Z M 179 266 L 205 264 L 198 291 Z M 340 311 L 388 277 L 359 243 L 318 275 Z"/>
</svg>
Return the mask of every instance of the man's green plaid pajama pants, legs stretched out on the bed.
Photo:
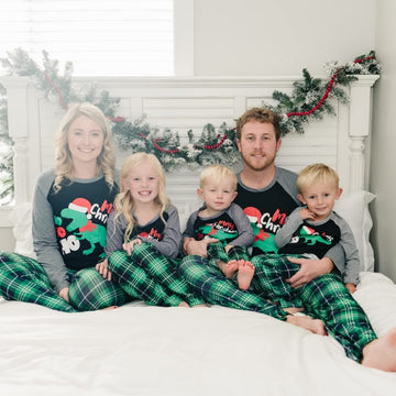
<svg viewBox="0 0 396 396">
<path fill-rule="evenodd" d="M 266 260 L 277 258 L 279 255 L 261 255 L 252 258 L 255 266 L 252 282 L 255 293 L 238 289 L 235 283 L 224 278 L 219 270 L 208 265 L 208 261 L 200 256 L 186 256 L 182 261 L 179 273 L 211 304 L 253 310 L 284 320 L 282 315 L 285 314 L 282 308 L 266 300 L 267 296 L 261 286 L 267 282 L 263 271 Z M 376 334 L 341 277 L 337 274 L 321 275 L 297 288 L 295 293 L 304 304 L 305 314 L 321 319 L 328 332 L 344 348 L 346 355 L 360 362 L 363 358 L 363 348 L 375 340 Z"/>
</svg>

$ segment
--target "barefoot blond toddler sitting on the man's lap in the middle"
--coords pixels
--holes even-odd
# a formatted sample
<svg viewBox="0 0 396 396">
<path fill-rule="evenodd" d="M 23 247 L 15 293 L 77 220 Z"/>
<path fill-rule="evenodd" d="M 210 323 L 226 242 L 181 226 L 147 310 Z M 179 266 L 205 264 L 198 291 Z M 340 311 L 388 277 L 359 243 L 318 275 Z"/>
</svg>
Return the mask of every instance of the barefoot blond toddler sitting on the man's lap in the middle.
<svg viewBox="0 0 396 396">
<path fill-rule="evenodd" d="M 205 204 L 188 218 L 183 241 L 207 240 L 209 263 L 228 278 L 238 272 L 239 288 L 246 290 L 254 275 L 246 248 L 252 245 L 254 234 L 246 215 L 232 202 L 237 184 L 237 175 L 224 165 L 211 165 L 201 172 L 197 193 Z"/>
</svg>

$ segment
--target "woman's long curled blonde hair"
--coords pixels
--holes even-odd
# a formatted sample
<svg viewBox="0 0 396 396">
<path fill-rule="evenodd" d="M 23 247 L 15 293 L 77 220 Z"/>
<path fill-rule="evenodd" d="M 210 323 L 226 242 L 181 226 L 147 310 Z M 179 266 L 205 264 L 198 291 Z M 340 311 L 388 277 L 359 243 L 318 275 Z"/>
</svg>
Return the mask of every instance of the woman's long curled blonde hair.
<svg viewBox="0 0 396 396">
<path fill-rule="evenodd" d="M 97 158 L 98 175 L 102 174 L 105 176 L 106 183 L 110 186 L 110 188 L 114 186 L 116 154 L 110 123 L 98 107 L 92 103 L 82 102 L 75 103 L 69 107 L 57 130 L 54 183 L 55 191 L 61 190 L 61 183 L 65 178 L 73 182 L 73 161 L 67 143 L 67 132 L 72 123 L 80 116 L 88 117 L 90 120 L 95 121 L 99 124 L 103 132 L 103 147 Z"/>
</svg>

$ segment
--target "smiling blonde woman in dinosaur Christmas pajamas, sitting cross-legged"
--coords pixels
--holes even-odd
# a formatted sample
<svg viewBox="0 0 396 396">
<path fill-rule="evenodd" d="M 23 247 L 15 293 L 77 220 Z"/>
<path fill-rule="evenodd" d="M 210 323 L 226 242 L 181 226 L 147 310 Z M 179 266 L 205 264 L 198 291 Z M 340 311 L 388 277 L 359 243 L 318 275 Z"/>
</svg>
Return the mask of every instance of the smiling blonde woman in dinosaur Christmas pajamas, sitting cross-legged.
<svg viewBox="0 0 396 396">
<path fill-rule="evenodd" d="M 37 261 L 0 254 L 6 299 L 62 311 L 122 305 L 125 294 L 95 266 L 105 258 L 106 227 L 118 193 L 111 129 L 91 103 L 72 106 L 57 134 L 55 168 L 43 173 L 33 199 Z"/>
</svg>

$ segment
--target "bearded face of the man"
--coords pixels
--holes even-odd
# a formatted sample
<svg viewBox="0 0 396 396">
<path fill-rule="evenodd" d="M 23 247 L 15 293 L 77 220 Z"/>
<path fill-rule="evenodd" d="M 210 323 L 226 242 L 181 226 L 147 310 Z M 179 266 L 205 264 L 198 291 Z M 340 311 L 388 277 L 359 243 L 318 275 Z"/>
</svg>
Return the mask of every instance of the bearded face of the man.
<svg viewBox="0 0 396 396">
<path fill-rule="evenodd" d="M 246 122 L 242 128 L 241 139 L 237 140 L 244 166 L 252 170 L 275 166 L 280 143 L 280 139 L 276 140 L 274 125 L 258 121 Z"/>
</svg>

